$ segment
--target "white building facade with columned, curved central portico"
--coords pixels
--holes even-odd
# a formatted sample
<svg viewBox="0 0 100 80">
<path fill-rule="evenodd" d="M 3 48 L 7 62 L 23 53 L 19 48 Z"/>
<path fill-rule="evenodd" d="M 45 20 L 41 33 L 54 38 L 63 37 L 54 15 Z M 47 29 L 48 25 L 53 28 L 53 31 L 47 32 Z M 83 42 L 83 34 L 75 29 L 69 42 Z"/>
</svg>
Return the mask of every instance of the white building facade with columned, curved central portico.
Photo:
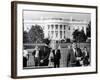
<svg viewBox="0 0 100 80">
<path fill-rule="evenodd" d="M 86 20 L 76 20 L 73 18 L 40 18 L 38 20 L 24 20 L 24 30 L 29 31 L 33 26 L 40 25 L 44 31 L 44 38 L 49 38 L 50 40 L 73 40 L 74 30 L 84 30 L 86 33 L 86 28 L 89 21 Z"/>
</svg>

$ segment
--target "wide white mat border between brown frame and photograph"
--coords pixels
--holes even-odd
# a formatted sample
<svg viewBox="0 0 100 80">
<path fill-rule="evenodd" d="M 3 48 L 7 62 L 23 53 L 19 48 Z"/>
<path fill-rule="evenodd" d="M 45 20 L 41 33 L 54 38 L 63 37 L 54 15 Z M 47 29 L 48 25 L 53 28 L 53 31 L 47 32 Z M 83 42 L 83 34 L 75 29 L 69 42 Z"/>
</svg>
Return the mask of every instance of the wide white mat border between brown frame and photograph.
<svg viewBox="0 0 100 80">
<path fill-rule="evenodd" d="M 47 10 L 62 12 L 81 12 L 91 13 L 91 66 L 89 67 L 73 67 L 73 68 L 52 68 L 52 69 L 30 69 L 23 70 L 22 67 L 22 48 L 23 48 L 23 28 L 22 28 L 22 10 Z M 95 46 L 95 47 L 94 47 Z M 74 70 L 73 70 L 74 69 Z M 17 76 L 39 76 L 52 74 L 70 74 L 70 73 L 86 73 L 96 72 L 96 9 L 83 7 L 62 7 L 47 5 L 28 5 L 17 4 Z"/>
</svg>

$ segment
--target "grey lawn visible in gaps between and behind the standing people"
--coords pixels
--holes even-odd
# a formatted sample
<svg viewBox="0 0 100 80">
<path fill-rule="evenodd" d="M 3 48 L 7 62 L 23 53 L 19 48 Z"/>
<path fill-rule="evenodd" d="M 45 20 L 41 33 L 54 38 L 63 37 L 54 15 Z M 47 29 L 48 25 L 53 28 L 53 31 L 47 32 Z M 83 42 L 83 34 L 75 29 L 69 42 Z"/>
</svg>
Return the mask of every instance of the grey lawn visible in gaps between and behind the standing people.
<svg viewBox="0 0 100 80">
<path fill-rule="evenodd" d="M 27 48 L 27 51 L 29 53 L 29 60 L 28 60 L 28 66 L 32 67 L 34 66 L 34 61 L 32 59 L 32 52 L 34 50 L 36 44 L 24 44 L 24 47 Z M 39 47 L 44 46 L 44 44 L 37 44 Z M 60 66 L 66 67 L 67 63 L 67 54 L 68 54 L 68 46 L 70 46 L 71 43 L 62 43 L 61 46 L 61 61 Z M 91 53 L 91 44 L 90 43 L 77 43 L 77 46 L 83 50 L 84 47 L 87 47 L 88 52 Z M 91 54 L 90 54 L 91 55 Z"/>
</svg>

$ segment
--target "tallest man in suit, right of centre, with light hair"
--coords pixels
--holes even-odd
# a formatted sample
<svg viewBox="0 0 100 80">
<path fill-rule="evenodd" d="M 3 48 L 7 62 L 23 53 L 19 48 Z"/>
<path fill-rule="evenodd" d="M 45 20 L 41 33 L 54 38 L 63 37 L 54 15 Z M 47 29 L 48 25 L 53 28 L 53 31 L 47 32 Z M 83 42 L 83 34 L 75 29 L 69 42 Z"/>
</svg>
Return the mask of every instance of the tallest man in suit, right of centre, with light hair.
<svg viewBox="0 0 100 80">
<path fill-rule="evenodd" d="M 77 47 L 76 43 L 72 43 L 72 48 L 67 54 L 67 67 L 81 66 L 82 51 Z"/>
</svg>

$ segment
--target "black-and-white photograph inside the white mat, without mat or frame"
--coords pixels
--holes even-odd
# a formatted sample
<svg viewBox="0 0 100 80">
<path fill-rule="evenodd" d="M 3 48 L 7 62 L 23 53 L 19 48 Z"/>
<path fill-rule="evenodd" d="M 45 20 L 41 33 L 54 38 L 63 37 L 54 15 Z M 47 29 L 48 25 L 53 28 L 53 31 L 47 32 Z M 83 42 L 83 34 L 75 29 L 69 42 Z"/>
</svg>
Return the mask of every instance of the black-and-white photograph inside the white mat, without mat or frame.
<svg viewBox="0 0 100 80">
<path fill-rule="evenodd" d="M 23 10 L 23 69 L 91 66 L 91 14 Z"/>
</svg>

